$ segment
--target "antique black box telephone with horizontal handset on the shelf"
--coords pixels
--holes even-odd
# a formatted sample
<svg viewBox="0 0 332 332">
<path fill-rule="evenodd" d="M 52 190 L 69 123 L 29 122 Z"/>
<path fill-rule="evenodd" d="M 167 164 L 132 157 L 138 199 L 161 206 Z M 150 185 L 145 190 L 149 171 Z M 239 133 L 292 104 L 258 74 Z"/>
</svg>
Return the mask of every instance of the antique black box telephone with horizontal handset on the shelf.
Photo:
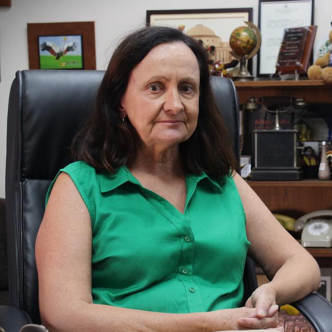
<svg viewBox="0 0 332 332">
<path fill-rule="evenodd" d="M 266 112 L 275 114 L 274 129 L 254 130 L 254 164 L 251 171 L 252 180 L 294 181 L 302 179 L 298 167 L 297 130 L 281 129 L 279 114 L 294 107 L 306 107 L 303 98 L 262 97 L 249 98 L 245 110 L 263 107 Z"/>
</svg>

